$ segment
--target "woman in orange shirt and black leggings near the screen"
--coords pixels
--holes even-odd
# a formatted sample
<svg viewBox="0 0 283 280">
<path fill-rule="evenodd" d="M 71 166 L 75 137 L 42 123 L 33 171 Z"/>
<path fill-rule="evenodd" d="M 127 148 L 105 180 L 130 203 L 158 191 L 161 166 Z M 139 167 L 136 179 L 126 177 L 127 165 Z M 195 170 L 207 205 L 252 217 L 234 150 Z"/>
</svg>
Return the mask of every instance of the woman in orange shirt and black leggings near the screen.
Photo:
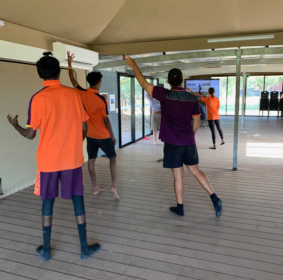
<svg viewBox="0 0 283 280">
<path fill-rule="evenodd" d="M 219 99 L 217 97 L 215 97 L 215 89 L 213 87 L 210 87 L 208 89 L 208 93 L 209 93 L 209 97 L 204 97 L 198 93 L 195 93 L 194 91 L 192 91 L 190 88 L 187 88 L 188 91 L 190 91 L 193 95 L 200 97 L 202 101 L 205 102 L 206 104 L 206 110 L 207 110 L 207 120 L 208 120 L 208 124 L 209 124 L 209 128 L 211 130 L 211 134 L 212 134 L 212 141 L 213 141 L 213 146 L 210 147 L 210 149 L 216 150 L 216 135 L 215 135 L 215 127 L 214 124 L 216 125 L 216 128 L 220 134 L 221 137 L 221 144 L 223 145 L 225 144 L 224 142 L 224 136 L 223 136 L 223 132 L 222 129 L 220 127 L 220 116 L 218 113 L 218 110 L 220 108 L 220 102 Z"/>
</svg>

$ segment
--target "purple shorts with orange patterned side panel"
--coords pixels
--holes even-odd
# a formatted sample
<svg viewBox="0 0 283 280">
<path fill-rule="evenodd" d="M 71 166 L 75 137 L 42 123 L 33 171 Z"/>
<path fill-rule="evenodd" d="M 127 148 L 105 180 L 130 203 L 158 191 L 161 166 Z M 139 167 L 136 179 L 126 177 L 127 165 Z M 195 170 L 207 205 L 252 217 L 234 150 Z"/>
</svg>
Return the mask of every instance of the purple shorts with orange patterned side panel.
<svg viewBox="0 0 283 280">
<path fill-rule="evenodd" d="M 34 194 L 41 195 L 42 201 L 57 197 L 59 179 L 62 198 L 70 199 L 73 195 L 83 195 L 82 167 L 55 172 L 37 171 Z"/>
</svg>

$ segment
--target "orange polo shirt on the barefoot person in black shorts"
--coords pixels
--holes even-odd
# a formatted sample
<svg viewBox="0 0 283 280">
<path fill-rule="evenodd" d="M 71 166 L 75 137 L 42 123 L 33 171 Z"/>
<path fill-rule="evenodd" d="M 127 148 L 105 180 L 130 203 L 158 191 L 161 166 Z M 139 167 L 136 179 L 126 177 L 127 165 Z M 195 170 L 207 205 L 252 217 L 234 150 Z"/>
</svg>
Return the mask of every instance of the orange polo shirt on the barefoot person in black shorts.
<svg viewBox="0 0 283 280">
<path fill-rule="evenodd" d="M 103 121 L 103 117 L 109 115 L 107 100 L 96 89 L 90 87 L 84 89 L 80 85 L 77 85 L 75 89 L 80 94 L 83 106 L 89 115 L 87 137 L 95 139 L 110 138 L 109 131 Z"/>
</svg>

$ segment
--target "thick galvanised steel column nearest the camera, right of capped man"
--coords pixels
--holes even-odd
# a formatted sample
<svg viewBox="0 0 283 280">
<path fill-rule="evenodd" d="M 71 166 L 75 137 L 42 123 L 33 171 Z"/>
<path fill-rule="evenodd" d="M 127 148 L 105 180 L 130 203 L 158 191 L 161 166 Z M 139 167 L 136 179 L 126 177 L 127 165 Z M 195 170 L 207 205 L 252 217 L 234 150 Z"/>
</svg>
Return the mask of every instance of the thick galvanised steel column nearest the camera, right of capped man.
<svg viewBox="0 0 283 280">
<path fill-rule="evenodd" d="M 236 97 L 235 97 L 234 145 L 233 145 L 233 170 L 238 170 L 237 169 L 237 163 L 238 163 L 238 136 L 239 136 L 239 104 L 240 104 L 240 81 L 241 81 L 241 54 L 242 54 L 242 50 L 241 49 L 237 49 Z"/>
</svg>

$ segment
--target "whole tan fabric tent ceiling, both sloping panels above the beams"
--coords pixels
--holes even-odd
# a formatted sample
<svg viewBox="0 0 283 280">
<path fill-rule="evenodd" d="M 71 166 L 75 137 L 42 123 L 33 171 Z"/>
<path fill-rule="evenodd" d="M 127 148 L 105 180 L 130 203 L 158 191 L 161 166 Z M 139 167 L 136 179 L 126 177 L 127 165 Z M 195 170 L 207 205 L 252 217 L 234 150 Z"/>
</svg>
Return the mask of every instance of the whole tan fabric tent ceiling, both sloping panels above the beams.
<svg viewBox="0 0 283 280">
<path fill-rule="evenodd" d="M 283 31 L 278 0 L 2 2 L 0 19 L 88 45 Z"/>
</svg>

